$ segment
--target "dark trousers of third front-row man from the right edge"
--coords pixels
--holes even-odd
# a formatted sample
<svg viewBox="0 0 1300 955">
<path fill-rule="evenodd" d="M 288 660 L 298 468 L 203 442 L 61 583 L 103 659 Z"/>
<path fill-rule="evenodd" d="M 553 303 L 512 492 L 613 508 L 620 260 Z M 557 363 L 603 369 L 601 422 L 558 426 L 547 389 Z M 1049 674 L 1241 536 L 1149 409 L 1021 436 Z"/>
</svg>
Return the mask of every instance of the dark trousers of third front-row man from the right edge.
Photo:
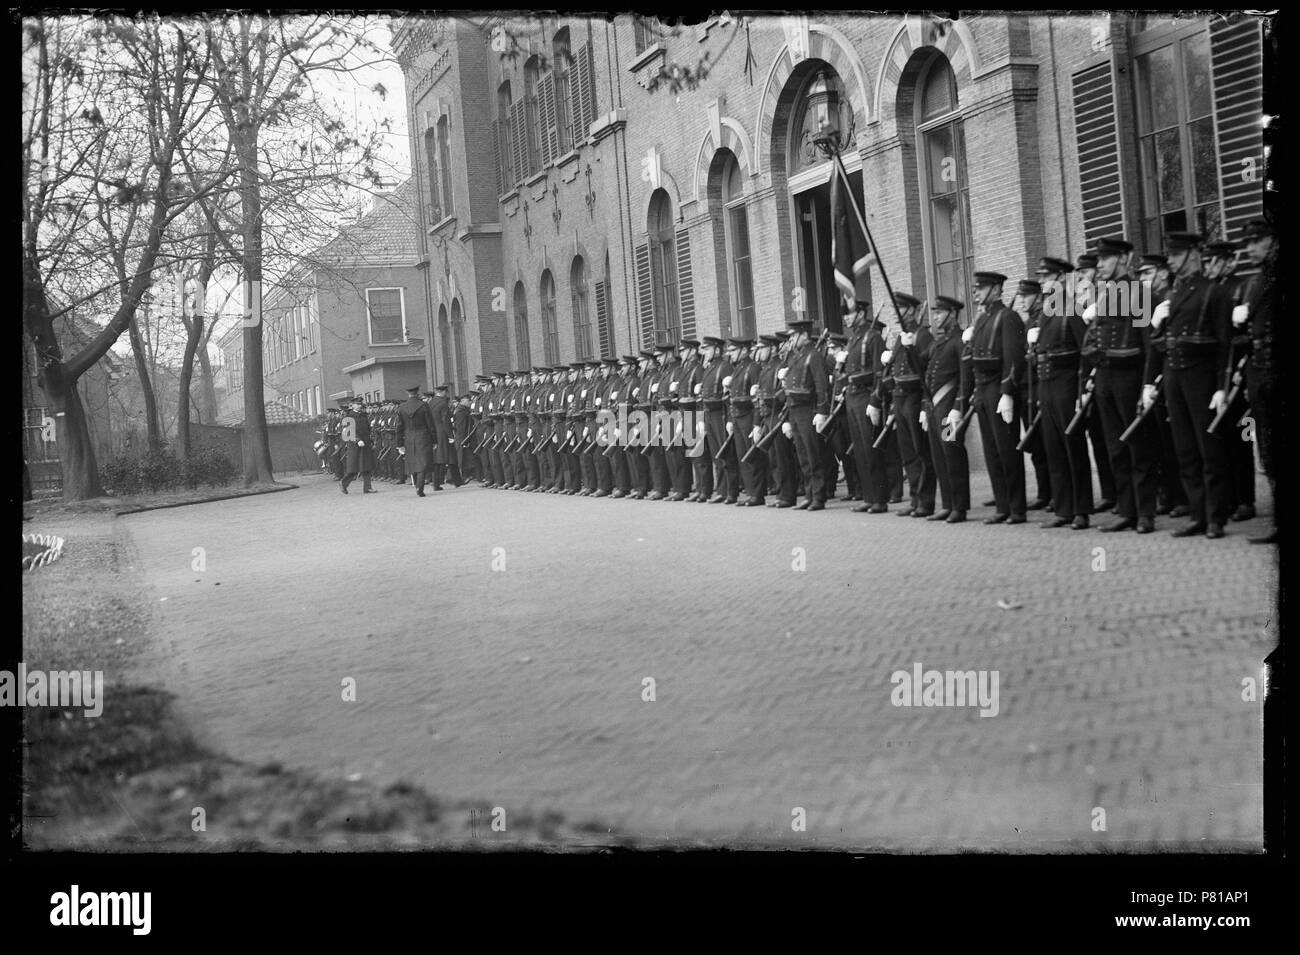
<svg viewBox="0 0 1300 955">
<path fill-rule="evenodd" d="M 1097 369 L 1095 385 L 1093 400 L 1097 407 L 1093 411 L 1106 435 L 1106 450 L 1115 482 L 1117 496 L 1112 500 L 1115 502 L 1121 517 L 1130 520 L 1152 517 L 1156 513 L 1158 487 L 1156 469 L 1160 451 L 1160 435 L 1153 417 L 1158 409 L 1147 416 L 1147 421 L 1138 427 L 1128 442 L 1119 440 L 1119 435 L 1138 414 L 1141 369 L 1102 365 Z"/>
</svg>

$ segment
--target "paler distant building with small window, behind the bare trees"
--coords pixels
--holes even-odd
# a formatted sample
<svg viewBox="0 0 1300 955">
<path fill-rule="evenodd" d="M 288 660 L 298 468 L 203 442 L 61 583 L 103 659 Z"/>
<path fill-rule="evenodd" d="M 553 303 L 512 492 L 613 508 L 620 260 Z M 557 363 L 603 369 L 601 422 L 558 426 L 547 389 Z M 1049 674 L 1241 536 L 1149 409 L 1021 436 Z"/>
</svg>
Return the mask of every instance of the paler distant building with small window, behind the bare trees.
<svg viewBox="0 0 1300 955">
<path fill-rule="evenodd" d="M 330 400 L 404 396 L 432 385 L 432 334 L 416 243 L 411 183 L 378 195 L 374 207 L 306 257 L 268 292 L 263 372 L 268 403 L 308 418 Z M 243 420 L 243 327 L 220 340 L 226 394 L 218 421 Z"/>
</svg>

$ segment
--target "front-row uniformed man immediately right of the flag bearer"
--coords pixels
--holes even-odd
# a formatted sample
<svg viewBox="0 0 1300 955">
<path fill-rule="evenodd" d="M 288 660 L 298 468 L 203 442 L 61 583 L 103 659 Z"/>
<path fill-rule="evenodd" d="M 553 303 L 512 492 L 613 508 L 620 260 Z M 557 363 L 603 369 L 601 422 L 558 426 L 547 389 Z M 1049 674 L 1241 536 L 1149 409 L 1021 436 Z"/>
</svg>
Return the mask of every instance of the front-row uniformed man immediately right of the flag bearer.
<svg viewBox="0 0 1300 955">
<path fill-rule="evenodd" d="M 958 431 L 967 407 L 967 395 L 962 392 L 965 343 L 958 333 L 958 316 L 965 307 L 965 303 L 946 295 L 936 295 L 930 304 L 927 400 L 920 412 L 920 425 L 930 439 L 930 457 L 935 463 L 944 504 L 942 511 L 926 520 L 948 524 L 965 521 L 966 512 L 971 507 L 971 468 L 966 453 L 966 429 Z M 974 385 L 974 379 L 970 383 Z M 945 439 L 945 433 L 950 440 Z"/>
</svg>

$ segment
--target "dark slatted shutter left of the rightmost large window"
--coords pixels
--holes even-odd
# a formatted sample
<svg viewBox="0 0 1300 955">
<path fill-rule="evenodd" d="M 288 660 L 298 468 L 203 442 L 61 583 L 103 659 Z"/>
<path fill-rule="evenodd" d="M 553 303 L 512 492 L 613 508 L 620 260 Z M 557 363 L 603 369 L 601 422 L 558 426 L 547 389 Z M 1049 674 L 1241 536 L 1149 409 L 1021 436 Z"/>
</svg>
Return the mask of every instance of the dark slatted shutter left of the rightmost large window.
<svg viewBox="0 0 1300 955">
<path fill-rule="evenodd" d="M 1115 82 L 1110 61 L 1075 73 L 1072 95 L 1083 236 L 1086 247 L 1092 248 L 1102 236 L 1124 233 Z"/>
</svg>

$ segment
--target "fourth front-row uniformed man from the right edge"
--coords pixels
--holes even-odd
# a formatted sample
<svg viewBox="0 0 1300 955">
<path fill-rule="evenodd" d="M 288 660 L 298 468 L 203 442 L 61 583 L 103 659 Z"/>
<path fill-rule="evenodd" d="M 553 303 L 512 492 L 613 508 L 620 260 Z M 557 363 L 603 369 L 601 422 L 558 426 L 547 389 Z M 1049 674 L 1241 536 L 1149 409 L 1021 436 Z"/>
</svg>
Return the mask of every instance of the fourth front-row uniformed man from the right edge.
<svg viewBox="0 0 1300 955">
<path fill-rule="evenodd" d="M 1079 365 L 1087 326 L 1074 303 L 1065 300 L 1060 281 L 1050 282 L 1046 303 L 1026 331 L 1030 381 L 1041 413 L 1039 433 L 1056 511 L 1056 517 L 1043 526 L 1084 530 L 1093 504 L 1088 437 L 1083 427 L 1074 434 L 1066 434 L 1066 427 L 1079 407 Z"/>
</svg>

